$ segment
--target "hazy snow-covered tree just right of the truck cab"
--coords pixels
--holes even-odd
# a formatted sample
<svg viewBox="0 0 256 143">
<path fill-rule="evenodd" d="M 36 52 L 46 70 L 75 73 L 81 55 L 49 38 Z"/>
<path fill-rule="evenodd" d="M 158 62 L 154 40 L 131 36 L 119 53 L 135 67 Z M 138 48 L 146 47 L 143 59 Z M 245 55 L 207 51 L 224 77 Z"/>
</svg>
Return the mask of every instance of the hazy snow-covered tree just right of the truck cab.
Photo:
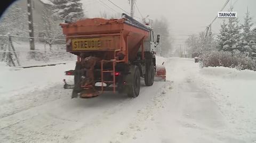
<svg viewBox="0 0 256 143">
<path fill-rule="evenodd" d="M 166 18 L 156 19 L 153 23 L 154 34 L 161 35 L 159 46 L 156 53 L 161 56 L 168 56 L 172 49 L 169 24 Z"/>
</svg>

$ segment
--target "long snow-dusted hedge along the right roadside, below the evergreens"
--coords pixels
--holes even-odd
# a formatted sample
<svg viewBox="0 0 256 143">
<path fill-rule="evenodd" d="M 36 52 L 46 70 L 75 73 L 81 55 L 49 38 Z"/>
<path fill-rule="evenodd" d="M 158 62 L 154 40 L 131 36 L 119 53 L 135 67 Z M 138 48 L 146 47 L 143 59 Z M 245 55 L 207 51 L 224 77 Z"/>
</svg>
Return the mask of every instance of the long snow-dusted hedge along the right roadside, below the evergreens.
<svg viewBox="0 0 256 143">
<path fill-rule="evenodd" d="M 204 52 L 199 56 L 201 67 L 224 66 L 237 68 L 238 70 L 256 71 L 255 61 L 243 54 L 236 54 L 225 51 Z"/>
</svg>

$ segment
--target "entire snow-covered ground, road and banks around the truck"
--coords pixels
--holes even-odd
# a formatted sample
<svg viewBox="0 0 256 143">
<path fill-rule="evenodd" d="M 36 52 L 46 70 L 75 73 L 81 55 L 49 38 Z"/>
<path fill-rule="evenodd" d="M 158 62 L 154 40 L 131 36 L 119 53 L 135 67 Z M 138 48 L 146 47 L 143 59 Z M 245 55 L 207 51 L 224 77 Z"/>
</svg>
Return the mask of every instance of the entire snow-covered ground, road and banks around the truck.
<svg viewBox="0 0 256 143">
<path fill-rule="evenodd" d="M 70 99 L 63 71 L 0 65 L 0 142 L 256 142 L 256 72 L 158 57 L 167 82 L 138 98 Z M 72 77 L 69 77 L 70 81 Z"/>
</svg>

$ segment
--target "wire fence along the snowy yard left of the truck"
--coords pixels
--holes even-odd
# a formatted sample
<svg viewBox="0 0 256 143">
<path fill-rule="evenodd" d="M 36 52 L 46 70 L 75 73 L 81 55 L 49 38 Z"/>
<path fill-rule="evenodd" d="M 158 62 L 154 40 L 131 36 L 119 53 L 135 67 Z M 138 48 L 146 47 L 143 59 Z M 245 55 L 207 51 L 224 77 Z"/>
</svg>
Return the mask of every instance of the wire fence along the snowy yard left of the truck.
<svg viewBox="0 0 256 143">
<path fill-rule="evenodd" d="M 0 62 L 9 66 L 29 66 L 76 60 L 75 55 L 66 52 L 66 45 L 60 44 L 61 40 L 65 43 L 64 39 L 51 38 L 51 46 L 35 41 L 35 51 L 30 50 L 29 39 L 31 37 L 0 35 Z"/>
</svg>

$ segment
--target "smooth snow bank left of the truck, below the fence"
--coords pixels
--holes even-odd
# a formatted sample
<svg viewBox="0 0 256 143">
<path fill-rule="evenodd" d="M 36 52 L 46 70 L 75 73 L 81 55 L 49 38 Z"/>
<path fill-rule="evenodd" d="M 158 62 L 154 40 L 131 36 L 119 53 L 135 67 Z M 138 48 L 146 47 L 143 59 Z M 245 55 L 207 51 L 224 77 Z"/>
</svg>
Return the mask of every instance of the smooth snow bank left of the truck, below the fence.
<svg viewBox="0 0 256 143">
<path fill-rule="evenodd" d="M 0 98 L 43 89 L 62 83 L 65 71 L 74 69 L 75 62 L 29 69 L 12 68 L 0 63 Z"/>
</svg>

